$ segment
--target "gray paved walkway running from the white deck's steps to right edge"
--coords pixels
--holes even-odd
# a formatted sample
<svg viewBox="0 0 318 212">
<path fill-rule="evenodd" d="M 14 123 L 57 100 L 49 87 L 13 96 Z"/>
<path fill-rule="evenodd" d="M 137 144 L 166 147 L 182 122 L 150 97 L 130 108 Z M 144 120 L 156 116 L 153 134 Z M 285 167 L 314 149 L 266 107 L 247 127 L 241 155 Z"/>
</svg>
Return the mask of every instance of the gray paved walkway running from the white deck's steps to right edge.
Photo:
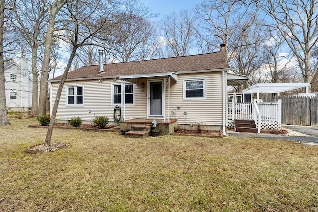
<svg viewBox="0 0 318 212">
<path fill-rule="evenodd" d="M 241 133 L 235 131 L 228 131 L 229 136 L 236 136 L 236 137 L 252 137 L 252 138 L 265 138 L 265 139 L 275 139 L 275 140 L 290 140 L 290 141 L 303 141 L 309 142 L 312 144 L 318 145 L 318 127 L 308 127 L 308 126 L 291 126 L 291 125 L 284 125 L 283 128 L 296 131 L 299 133 L 306 134 L 304 136 L 294 136 L 294 135 L 277 135 L 277 134 L 270 134 L 270 133 Z"/>
</svg>

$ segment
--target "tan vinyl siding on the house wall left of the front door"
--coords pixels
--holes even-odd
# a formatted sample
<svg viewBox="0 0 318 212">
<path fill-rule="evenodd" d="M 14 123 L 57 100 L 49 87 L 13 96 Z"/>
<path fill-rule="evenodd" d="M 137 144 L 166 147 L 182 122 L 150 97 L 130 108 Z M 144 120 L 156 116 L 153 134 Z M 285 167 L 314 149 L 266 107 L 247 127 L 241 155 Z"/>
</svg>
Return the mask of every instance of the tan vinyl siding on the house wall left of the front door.
<svg viewBox="0 0 318 212">
<path fill-rule="evenodd" d="M 111 83 L 114 80 L 85 80 L 65 82 L 57 111 L 57 120 L 70 120 L 79 116 L 84 121 L 91 121 L 95 116 L 107 116 L 113 121 L 114 105 L 111 105 Z M 120 81 L 119 81 L 120 82 Z M 135 85 L 135 105 L 126 105 L 125 116 L 129 118 L 146 118 L 146 87 L 141 91 L 141 81 Z M 52 83 L 52 104 L 54 104 L 59 83 Z M 83 86 L 84 105 L 66 105 L 66 88 Z M 139 86 L 138 86 L 139 85 Z M 90 113 L 89 113 L 90 111 Z M 122 112 L 124 113 L 123 109 Z M 124 114 L 123 114 L 124 115 Z"/>
</svg>

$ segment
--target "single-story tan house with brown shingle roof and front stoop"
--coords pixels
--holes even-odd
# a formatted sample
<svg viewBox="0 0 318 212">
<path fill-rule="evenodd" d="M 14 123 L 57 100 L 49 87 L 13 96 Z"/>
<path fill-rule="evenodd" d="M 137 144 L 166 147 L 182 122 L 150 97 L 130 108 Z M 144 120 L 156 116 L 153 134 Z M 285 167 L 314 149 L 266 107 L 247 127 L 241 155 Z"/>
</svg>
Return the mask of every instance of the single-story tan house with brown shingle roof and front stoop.
<svg viewBox="0 0 318 212">
<path fill-rule="evenodd" d="M 191 129 L 200 123 L 225 134 L 227 85 L 248 78 L 227 72 L 230 67 L 224 45 L 221 46 L 214 53 L 100 63 L 71 71 L 56 119 L 65 121 L 79 116 L 91 121 L 95 116 L 107 116 L 110 121 L 121 123 L 136 118 L 156 119 L 176 121 L 179 127 Z M 51 110 L 61 78 L 49 80 Z"/>
</svg>

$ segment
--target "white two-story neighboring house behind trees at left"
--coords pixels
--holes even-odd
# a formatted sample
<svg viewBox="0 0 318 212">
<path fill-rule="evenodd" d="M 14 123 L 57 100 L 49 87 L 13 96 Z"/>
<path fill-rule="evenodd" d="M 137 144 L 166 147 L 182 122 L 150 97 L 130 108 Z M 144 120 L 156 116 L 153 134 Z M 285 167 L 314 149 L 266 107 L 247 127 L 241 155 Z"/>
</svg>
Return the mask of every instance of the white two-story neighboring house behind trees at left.
<svg viewBox="0 0 318 212">
<path fill-rule="evenodd" d="M 32 70 L 26 58 L 4 63 L 6 107 L 27 112 L 32 107 Z"/>
</svg>

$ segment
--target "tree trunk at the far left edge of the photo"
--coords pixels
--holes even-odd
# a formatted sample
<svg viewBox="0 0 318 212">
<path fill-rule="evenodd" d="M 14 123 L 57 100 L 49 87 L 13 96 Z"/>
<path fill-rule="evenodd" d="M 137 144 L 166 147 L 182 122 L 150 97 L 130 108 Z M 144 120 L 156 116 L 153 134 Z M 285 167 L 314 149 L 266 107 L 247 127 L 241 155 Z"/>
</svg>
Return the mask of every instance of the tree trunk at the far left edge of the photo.
<svg viewBox="0 0 318 212">
<path fill-rule="evenodd" d="M 0 0 L 0 125 L 9 125 L 5 99 L 5 76 L 3 60 L 4 0 Z"/>
</svg>

